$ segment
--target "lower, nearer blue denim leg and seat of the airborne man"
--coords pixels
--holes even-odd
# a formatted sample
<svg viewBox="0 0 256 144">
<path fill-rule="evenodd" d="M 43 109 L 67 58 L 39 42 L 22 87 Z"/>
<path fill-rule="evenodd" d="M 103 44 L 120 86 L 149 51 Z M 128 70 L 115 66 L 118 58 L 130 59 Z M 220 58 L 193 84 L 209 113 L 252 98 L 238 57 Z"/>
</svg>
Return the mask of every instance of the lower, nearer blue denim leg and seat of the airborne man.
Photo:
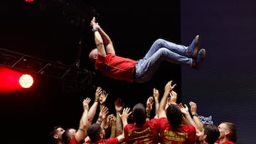
<svg viewBox="0 0 256 144">
<path fill-rule="evenodd" d="M 153 49 L 152 49 L 153 48 Z M 178 53 L 173 52 L 167 48 L 157 48 L 151 47 L 151 51 L 146 54 L 146 56 L 139 60 L 136 65 L 136 77 L 137 82 L 148 82 L 151 77 L 154 76 L 156 70 L 158 70 L 161 62 L 166 60 L 167 62 L 175 63 L 178 65 L 191 65 L 193 62 L 192 58 L 185 57 L 183 55 L 178 55 Z M 151 55 L 150 55 L 151 54 Z"/>
</svg>

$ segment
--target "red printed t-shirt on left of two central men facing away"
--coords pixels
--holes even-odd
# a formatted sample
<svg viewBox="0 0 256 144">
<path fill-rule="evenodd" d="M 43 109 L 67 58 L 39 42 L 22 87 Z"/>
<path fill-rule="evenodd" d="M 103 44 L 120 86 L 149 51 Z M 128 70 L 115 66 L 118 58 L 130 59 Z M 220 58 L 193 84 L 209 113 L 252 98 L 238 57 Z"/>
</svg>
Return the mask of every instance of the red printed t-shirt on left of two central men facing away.
<svg viewBox="0 0 256 144">
<path fill-rule="evenodd" d="M 144 126 L 138 127 L 133 123 L 124 127 L 124 137 L 126 143 L 157 143 L 159 132 L 159 120 L 156 118 L 146 121 Z"/>
</svg>

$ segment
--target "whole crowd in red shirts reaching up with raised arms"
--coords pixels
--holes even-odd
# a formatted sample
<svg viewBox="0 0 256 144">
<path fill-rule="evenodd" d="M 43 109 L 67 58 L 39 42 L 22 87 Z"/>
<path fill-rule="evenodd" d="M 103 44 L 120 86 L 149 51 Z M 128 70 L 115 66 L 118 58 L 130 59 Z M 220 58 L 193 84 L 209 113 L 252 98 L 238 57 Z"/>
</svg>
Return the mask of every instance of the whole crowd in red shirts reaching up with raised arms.
<svg viewBox="0 0 256 144">
<path fill-rule="evenodd" d="M 82 101 L 83 113 L 78 129 L 55 126 L 49 136 L 55 144 L 236 143 L 238 135 L 234 123 L 224 121 L 218 126 L 202 123 L 196 102 L 177 103 L 175 87 L 172 81 L 167 82 L 163 96 L 154 88 L 153 96 L 149 96 L 145 104 L 138 103 L 132 108 L 124 106 L 122 99 L 117 98 L 113 102 L 116 114 L 110 114 L 106 106 L 107 92 L 97 87 L 91 106 L 89 97 Z M 100 112 L 97 114 L 98 108 Z M 133 122 L 128 123 L 128 118 Z"/>
</svg>

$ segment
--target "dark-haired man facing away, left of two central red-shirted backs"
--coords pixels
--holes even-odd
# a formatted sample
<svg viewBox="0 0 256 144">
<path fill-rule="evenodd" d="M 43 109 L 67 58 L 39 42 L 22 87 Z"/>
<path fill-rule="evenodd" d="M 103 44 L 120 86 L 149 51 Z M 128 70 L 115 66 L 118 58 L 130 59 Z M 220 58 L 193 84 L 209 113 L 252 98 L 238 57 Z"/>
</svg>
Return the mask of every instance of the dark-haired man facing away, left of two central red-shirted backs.
<svg viewBox="0 0 256 144">
<path fill-rule="evenodd" d="M 134 123 L 124 127 L 126 143 L 158 143 L 159 121 L 152 118 L 146 121 L 146 109 L 143 104 L 136 104 L 132 109 Z"/>
</svg>

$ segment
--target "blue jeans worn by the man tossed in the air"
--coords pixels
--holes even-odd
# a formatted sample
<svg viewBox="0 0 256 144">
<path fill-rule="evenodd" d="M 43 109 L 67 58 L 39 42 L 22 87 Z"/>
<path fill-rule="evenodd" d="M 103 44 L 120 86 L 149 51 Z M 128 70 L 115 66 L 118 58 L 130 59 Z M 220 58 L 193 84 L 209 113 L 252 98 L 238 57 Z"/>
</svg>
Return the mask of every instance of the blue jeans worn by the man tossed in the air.
<svg viewBox="0 0 256 144">
<path fill-rule="evenodd" d="M 187 48 L 188 46 L 177 45 L 167 40 L 156 40 L 146 55 L 137 61 L 135 66 L 136 82 L 148 82 L 164 60 L 178 65 L 190 66 L 193 59 L 191 55 L 187 54 Z"/>
</svg>

